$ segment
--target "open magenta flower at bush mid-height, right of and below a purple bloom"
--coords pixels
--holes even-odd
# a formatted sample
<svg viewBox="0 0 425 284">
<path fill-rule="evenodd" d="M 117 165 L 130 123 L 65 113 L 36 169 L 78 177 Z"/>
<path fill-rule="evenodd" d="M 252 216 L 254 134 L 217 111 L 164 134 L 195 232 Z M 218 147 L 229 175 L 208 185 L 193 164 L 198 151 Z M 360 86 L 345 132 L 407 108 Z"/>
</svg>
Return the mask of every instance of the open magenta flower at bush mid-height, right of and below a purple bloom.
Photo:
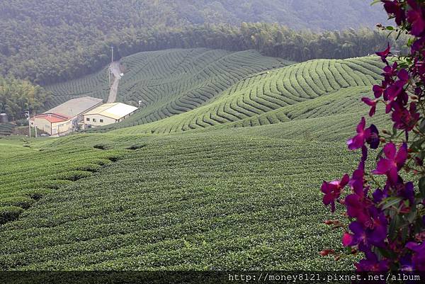
<svg viewBox="0 0 425 284">
<path fill-rule="evenodd" d="M 407 144 L 402 144 L 397 152 L 395 144 L 388 143 L 384 147 L 384 154 L 387 158 L 381 158 L 380 161 L 378 161 L 378 166 L 372 173 L 377 175 L 385 174 L 390 178 L 392 183 L 397 183 L 398 171 L 407 160 Z"/>
</svg>

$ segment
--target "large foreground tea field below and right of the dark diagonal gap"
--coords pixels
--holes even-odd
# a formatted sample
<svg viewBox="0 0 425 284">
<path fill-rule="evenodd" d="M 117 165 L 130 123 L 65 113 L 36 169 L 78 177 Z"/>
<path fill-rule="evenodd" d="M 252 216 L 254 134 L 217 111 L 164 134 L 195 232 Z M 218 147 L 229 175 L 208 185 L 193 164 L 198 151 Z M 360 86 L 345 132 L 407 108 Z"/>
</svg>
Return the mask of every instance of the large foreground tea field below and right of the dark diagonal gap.
<svg viewBox="0 0 425 284">
<path fill-rule="evenodd" d="M 269 130 L 278 135 L 283 125 Z M 347 267 L 348 262 L 318 254 L 324 246 L 339 245 L 336 232 L 322 224 L 329 212 L 320 204 L 318 185 L 350 169 L 353 154 L 339 142 L 287 140 L 262 131 L 92 134 L 45 144 L 57 149 L 50 155 L 61 152 L 63 157 L 83 145 L 89 157 L 101 140 L 126 154 L 101 171 L 59 186 L 18 220 L 2 225 L 0 267 Z M 125 150 L 132 145 L 138 147 Z"/>
</svg>

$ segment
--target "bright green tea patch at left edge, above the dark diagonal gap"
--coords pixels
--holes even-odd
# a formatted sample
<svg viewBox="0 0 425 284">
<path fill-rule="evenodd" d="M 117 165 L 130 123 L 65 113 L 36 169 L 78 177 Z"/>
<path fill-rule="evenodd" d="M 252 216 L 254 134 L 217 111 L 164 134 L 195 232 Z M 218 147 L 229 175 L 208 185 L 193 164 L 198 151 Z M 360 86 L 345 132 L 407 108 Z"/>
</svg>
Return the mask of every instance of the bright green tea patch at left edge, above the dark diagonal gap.
<svg viewBox="0 0 425 284">
<path fill-rule="evenodd" d="M 121 151 L 102 151 L 84 144 L 41 147 L 17 138 L 0 140 L 0 224 L 15 220 L 45 194 L 91 176 L 111 164 Z"/>
</svg>

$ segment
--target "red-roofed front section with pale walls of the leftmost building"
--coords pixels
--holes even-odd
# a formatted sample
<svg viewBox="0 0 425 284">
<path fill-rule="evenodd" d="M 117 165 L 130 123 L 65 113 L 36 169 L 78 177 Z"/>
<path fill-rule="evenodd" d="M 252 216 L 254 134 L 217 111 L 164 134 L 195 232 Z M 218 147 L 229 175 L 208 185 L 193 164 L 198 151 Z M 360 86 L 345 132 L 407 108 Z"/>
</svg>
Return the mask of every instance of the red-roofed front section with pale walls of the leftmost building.
<svg viewBox="0 0 425 284">
<path fill-rule="evenodd" d="M 30 123 L 32 126 L 36 125 L 39 130 L 52 136 L 67 135 L 72 132 L 72 118 L 58 113 L 35 115 Z"/>
</svg>

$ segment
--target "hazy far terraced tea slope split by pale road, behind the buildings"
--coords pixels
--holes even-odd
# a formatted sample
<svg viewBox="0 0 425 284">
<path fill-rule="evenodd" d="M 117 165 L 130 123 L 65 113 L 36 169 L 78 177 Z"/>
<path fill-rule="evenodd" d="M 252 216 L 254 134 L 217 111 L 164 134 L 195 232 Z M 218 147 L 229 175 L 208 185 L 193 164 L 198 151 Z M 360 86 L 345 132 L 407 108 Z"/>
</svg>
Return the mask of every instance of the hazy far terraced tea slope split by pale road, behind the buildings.
<svg viewBox="0 0 425 284">
<path fill-rule="evenodd" d="M 124 57 L 125 76 L 118 86 L 118 101 L 142 110 L 124 125 L 139 125 L 196 108 L 246 76 L 292 62 L 264 57 L 256 51 L 162 50 Z M 46 86 L 54 99 L 50 106 L 74 96 L 108 97 L 108 71 Z"/>
</svg>

